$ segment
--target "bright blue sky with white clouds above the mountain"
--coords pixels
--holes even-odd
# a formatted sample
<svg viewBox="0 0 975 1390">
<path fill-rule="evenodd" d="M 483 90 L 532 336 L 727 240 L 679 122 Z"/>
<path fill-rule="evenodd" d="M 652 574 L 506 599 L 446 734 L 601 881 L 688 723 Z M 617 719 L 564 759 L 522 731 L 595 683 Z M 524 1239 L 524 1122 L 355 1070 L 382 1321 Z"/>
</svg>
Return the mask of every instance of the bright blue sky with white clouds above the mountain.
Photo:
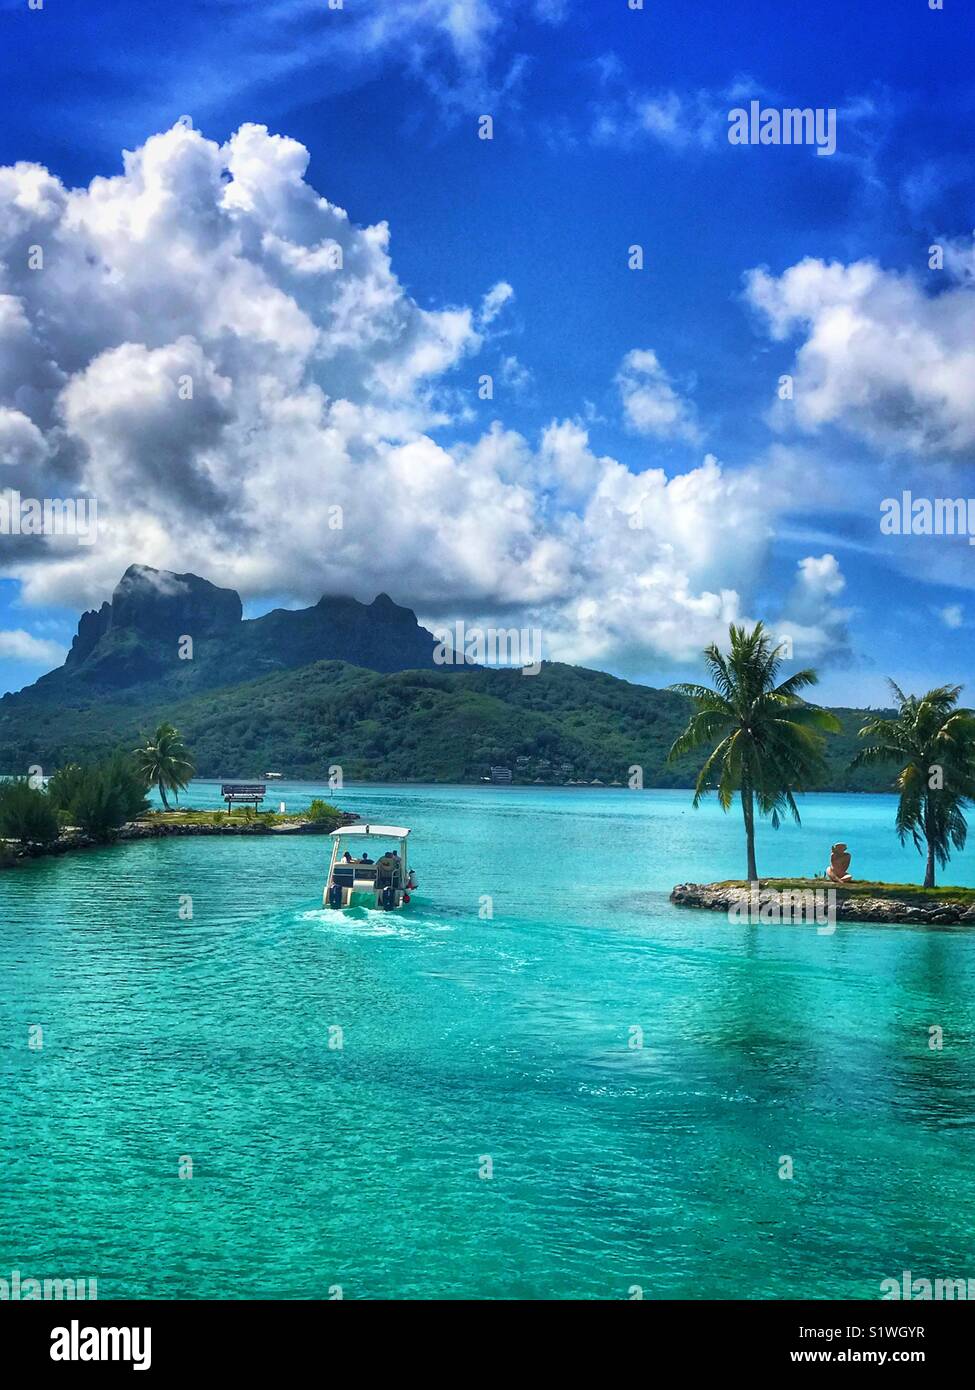
<svg viewBox="0 0 975 1390">
<path fill-rule="evenodd" d="M 108 528 L 0 537 L 0 688 L 128 563 L 250 613 L 382 588 L 431 623 L 531 621 L 548 656 L 652 684 L 733 617 L 790 635 L 833 702 L 971 681 L 967 538 L 879 530 L 903 488 L 975 496 L 960 0 L 177 0 L 138 22 L 18 0 L 0 26 L 0 293 L 32 345 L 11 329 L 0 486 L 96 495 Z M 729 145 L 752 97 L 835 108 L 836 153 Z M 218 154 L 253 126 L 296 145 Z M 29 164 L 81 192 L 39 200 Z M 341 289 L 307 259 L 330 236 Z M 181 368 L 192 425 L 160 404 Z"/>
</svg>

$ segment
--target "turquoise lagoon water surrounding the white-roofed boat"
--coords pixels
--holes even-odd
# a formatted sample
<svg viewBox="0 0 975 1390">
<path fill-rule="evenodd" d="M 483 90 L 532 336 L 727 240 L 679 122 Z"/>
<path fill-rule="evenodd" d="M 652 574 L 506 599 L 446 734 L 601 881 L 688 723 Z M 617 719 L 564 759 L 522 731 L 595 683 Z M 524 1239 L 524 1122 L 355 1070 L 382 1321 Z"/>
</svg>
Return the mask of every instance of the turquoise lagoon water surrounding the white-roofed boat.
<svg viewBox="0 0 975 1390">
<path fill-rule="evenodd" d="M 675 881 L 743 867 L 737 816 L 687 792 L 335 799 L 414 827 L 409 913 L 323 912 L 320 838 L 0 876 L 0 1275 L 95 1276 L 102 1298 L 836 1298 L 975 1275 L 975 935 L 675 909 Z M 821 872 L 846 840 L 855 874 L 917 878 L 892 821 L 889 798 L 807 796 L 759 869 Z M 972 855 L 949 877 L 974 884 Z"/>
</svg>

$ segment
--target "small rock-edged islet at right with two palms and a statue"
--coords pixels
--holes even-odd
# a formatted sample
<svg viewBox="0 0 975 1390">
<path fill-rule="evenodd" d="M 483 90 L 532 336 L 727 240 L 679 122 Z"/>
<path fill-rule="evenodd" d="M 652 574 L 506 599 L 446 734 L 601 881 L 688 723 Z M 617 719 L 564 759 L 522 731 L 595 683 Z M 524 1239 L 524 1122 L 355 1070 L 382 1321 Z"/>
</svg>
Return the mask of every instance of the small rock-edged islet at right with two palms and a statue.
<svg viewBox="0 0 975 1390">
<path fill-rule="evenodd" d="M 779 680 L 782 649 L 762 623 L 751 631 L 732 626 L 729 651 L 709 645 L 704 660 L 711 685 L 676 687 L 694 706 L 669 758 L 711 751 L 694 785 L 694 806 L 716 792 L 722 810 L 737 798 L 746 838 L 747 877 L 712 884 L 677 884 L 677 906 L 726 912 L 741 920 L 800 922 L 825 912 L 821 929 L 837 919 L 924 924 L 975 924 L 975 890 L 935 887 L 936 867 L 965 848 L 965 815 L 975 805 L 975 710 L 961 708 L 961 687 L 940 685 L 907 695 L 893 681 L 893 717 L 871 716 L 860 730 L 865 742 L 851 767 L 896 769 L 894 830 L 925 855 L 921 888 L 855 883 L 846 845 L 833 845 L 822 878 L 761 880 L 755 860 L 755 816 L 777 828 L 784 815 L 800 823 L 796 796 L 822 776 L 826 741 L 841 726 L 830 710 L 800 694 L 818 682 L 814 670 Z"/>
</svg>

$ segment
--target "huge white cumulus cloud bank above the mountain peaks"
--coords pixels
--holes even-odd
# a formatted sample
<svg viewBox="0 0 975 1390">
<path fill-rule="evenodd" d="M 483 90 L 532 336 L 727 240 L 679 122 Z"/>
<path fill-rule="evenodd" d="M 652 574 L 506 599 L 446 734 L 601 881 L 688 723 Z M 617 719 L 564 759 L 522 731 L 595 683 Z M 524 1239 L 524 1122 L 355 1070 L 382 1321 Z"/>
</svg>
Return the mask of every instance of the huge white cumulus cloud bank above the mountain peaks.
<svg viewBox="0 0 975 1390">
<path fill-rule="evenodd" d="M 22 599 L 92 606 L 131 563 L 252 600 L 385 589 L 427 621 L 530 613 L 548 656 L 630 671 L 744 619 L 789 505 L 775 480 L 626 467 L 579 418 L 462 441 L 510 285 L 420 307 L 387 224 L 352 222 L 306 167 L 264 126 L 221 146 L 179 122 L 88 188 L 0 170 L 0 489 L 99 507 L 95 545 L 3 539 Z M 644 439 L 700 439 L 655 353 L 618 386 Z"/>
</svg>

